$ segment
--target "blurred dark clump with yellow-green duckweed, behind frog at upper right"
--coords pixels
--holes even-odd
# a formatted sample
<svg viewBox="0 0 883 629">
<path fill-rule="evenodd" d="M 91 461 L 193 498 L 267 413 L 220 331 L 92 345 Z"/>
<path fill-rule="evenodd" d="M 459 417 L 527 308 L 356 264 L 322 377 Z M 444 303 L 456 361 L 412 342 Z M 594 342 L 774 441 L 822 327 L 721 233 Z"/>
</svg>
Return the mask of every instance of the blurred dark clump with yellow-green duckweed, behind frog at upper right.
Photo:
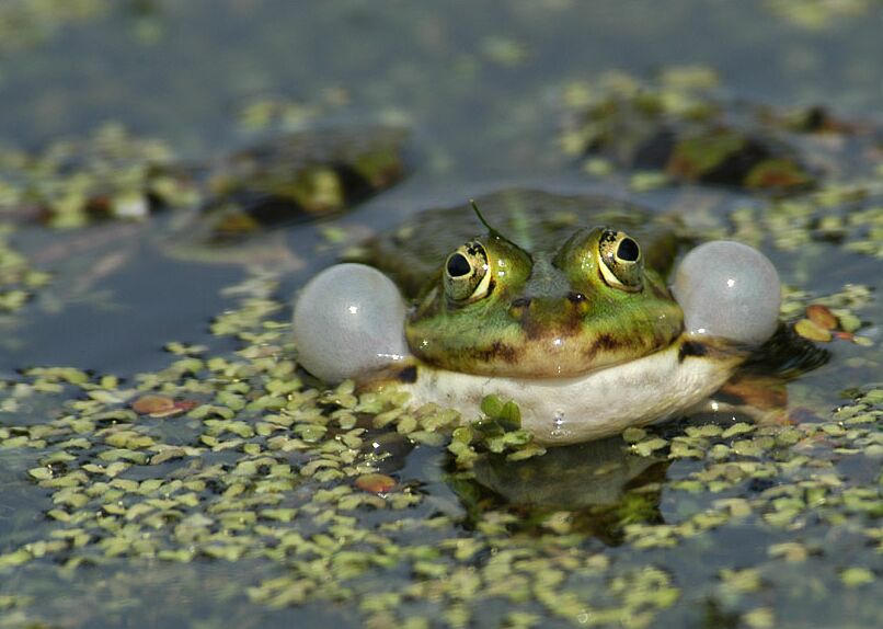
<svg viewBox="0 0 883 629">
<path fill-rule="evenodd" d="M 565 88 L 563 100 L 564 151 L 586 159 L 589 174 L 608 175 L 609 163 L 637 171 L 637 191 L 698 182 L 793 193 L 817 181 L 794 137 L 810 129 L 789 124 L 790 112 L 727 104 L 708 68 L 672 68 L 656 81 L 611 72 Z"/>
</svg>

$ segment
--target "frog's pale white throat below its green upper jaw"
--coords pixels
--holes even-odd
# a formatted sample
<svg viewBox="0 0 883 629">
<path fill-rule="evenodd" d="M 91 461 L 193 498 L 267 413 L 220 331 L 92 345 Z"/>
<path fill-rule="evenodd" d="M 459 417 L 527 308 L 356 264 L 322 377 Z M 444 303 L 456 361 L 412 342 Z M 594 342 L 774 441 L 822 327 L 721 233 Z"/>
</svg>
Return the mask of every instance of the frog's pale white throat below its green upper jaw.
<svg viewBox="0 0 883 629">
<path fill-rule="evenodd" d="M 685 334 L 665 350 L 621 365 L 565 379 L 488 377 L 417 367 L 401 385 L 414 405 L 452 408 L 477 419 L 483 397 L 517 400 L 521 426 L 544 445 L 597 439 L 684 413 L 714 393 L 747 353 Z"/>
</svg>

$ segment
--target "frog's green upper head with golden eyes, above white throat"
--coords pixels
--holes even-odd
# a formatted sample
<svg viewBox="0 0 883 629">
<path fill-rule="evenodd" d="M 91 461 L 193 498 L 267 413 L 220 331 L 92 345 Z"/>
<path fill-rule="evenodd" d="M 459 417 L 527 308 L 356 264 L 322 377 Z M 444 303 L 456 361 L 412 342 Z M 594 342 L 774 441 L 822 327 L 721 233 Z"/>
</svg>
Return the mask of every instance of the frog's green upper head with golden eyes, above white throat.
<svg viewBox="0 0 883 629">
<path fill-rule="evenodd" d="M 567 377 L 670 344 L 684 314 L 640 244 L 610 227 L 528 252 L 489 228 L 451 251 L 405 323 L 411 351 L 488 376 Z"/>
</svg>

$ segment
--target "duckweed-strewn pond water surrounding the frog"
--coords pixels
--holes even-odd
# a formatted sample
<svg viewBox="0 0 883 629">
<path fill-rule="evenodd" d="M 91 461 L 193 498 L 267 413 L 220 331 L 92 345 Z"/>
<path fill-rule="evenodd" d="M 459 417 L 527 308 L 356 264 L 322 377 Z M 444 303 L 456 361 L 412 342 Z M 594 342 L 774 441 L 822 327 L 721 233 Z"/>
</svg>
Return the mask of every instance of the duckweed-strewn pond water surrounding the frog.
<svg viewBox="0 0 883 629">
<path fill-rule="evenodd" d="M 4 2 L 0 627 L 883 626 L 881 27 L 874 0 Z M 580 144 L 649 92 L 793 140 L 813 185 Z M 783 130 L 810 107 L 824 137 Z M 283 180 L 312 215 L 255 201 L 310 160 Z M 307 278 L 512 186 L 767 253 L 788 342 L 730 391 L 766 421 L 538 454 L 297 369 Z"/>
</svg>

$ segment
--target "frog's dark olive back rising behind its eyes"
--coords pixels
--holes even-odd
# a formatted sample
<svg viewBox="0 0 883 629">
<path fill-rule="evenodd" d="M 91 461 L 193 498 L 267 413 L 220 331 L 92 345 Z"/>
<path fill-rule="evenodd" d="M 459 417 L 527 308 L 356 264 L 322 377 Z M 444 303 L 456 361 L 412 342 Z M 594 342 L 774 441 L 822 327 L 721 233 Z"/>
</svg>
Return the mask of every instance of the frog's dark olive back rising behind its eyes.
<svg viewBox="0 0 883 629">
<path fill-rule="evenodd" d="M 475 203 L 496 231 L 529 252 L 554 252 L 574 229 L 609 225 L 641 242 L 647 265 L 663 275 L 676 253 L 672 217 L 616 198 L 507 188 Z M 414 297 L 451 251 L 482 231 L 468 203 L 429 209 L 371 240 L 360 261 L 391 276 L 405 296 Z"/>
</svg>

